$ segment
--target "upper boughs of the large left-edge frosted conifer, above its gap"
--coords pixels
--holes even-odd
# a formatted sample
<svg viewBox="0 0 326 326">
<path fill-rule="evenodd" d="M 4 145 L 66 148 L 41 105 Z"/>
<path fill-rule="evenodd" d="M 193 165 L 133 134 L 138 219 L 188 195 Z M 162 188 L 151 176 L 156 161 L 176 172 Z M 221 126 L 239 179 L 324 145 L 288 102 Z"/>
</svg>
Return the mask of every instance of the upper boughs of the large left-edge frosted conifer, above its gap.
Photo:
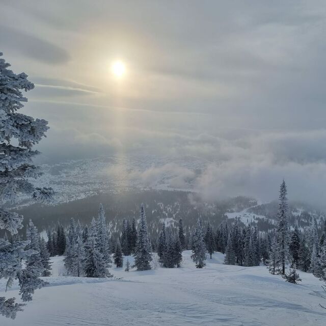
<svg viewBox="0 0 326 326">
<path fill-rule="evenodd" d="M 27 101 L 22 91 L 32 90 L 34 84 L 29 82 L 28 75 L 15 74 L 9 67 L 9 63 L 0 59 L 0 205 L 6 201 L 15 202 L 19 193 L 48 201 L 51 189 L 34 187 L 28 178 L 41 173 L 32 162 L 39 152 L 32 147 L 45 137 L 49 127 L 43 119 L 18 112 Z M 21 222 L 21 215 L 0 207 L 0 229 L 17 233 Z"/>
</svg>

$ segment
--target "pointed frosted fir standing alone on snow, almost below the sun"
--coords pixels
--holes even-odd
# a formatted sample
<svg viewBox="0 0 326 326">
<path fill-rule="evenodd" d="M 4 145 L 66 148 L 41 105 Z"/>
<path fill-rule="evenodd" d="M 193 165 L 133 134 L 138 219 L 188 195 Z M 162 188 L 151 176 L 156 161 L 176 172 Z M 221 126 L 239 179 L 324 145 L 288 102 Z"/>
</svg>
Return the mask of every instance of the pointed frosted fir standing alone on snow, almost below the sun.
<svg viewBox="0 0 326 326">
<path fill-rule="evenodd" d="M 138 240 L 137 246 L 135 248 L 134 254 L 134 266 L 138 270 L 148 270 L 151 269 L 150 262 L 152 261 L 152 247 L 149 240 L 147 231 L 146 215 L 144 210 L 144 205 L 141 205 L 141 218 L 138 230 Z"/>
</svg>

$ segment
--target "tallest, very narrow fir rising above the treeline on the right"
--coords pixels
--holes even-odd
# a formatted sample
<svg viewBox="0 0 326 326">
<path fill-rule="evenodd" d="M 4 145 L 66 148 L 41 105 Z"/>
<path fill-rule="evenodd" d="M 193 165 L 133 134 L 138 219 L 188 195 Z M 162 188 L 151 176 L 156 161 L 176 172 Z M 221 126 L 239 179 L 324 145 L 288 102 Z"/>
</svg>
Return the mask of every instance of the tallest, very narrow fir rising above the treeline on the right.
<svg viewBox="0 0 326 326">
<path fill-rule="evenodd" d="M 280 186 L 279 211 L 277 226 L 277 263 L 281 266 L 281 274 L 285 274 L 285 265 L 289 258 L 289 225 L 287 188 L 285 181 Z"/>
</svg>

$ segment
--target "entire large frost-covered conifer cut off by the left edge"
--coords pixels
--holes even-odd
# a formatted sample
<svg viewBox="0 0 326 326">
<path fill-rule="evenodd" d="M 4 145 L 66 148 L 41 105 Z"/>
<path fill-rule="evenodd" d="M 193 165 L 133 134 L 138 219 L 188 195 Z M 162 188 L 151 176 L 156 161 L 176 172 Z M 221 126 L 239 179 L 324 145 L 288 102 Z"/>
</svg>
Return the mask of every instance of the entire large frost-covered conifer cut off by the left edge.
<svg viewBox="0 0 326 326">
<path fill-rule="evenodd" d="M 0 57 L 2 57 L 0 52 Z M 12 235 L 22 228 L 23 216 L 5 209 L 5 204 L 15 203 L 20 194 L 48 203 L 52 189 L 35 187 L 32 178 L 41 175 L 40 169 L 32 162 L 39 152 L 33 146 L 45 137 L 47 121 L 34 119 L 18 113 L 27 101 L 22 91 L 30 91 L 34 84 L 25 73 L 15 74 L 9 69 L 10 64 L 0 59 L 0 230 L 7 230 Z M 25 243 L 0 239 L 0 278 L 8 279 L 10 287 L 14 279 L 20 283 L 23 301 L 30 301 L 31 294 L 42 284 L 34 278 L 31 268 L 22 268 L 21 259 L 25 259 Z M 26 284 L 30 282 L 30 287 Z M 6 300 L 0 297 L 0 314 L 15 318 L 22 304 L 15 304 L 14 298 Z"/>
</svg>

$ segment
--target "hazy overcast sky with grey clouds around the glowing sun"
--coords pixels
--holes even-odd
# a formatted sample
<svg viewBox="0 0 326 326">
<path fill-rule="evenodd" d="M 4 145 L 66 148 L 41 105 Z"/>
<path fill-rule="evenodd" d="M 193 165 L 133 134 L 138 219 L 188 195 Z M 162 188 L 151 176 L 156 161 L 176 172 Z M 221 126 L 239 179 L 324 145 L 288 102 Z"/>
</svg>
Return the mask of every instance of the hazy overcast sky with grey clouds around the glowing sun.
<svg viewBox="0 0 326 326">
<path fill-rule="evenodd" d="M 324 1 L 0 0 L 0 51 L 36 85 L 44 161 L 192 155 L 206 197 L 274 199 L 284 177 L 324 204 L 325 18 Z"/>
</svg>

